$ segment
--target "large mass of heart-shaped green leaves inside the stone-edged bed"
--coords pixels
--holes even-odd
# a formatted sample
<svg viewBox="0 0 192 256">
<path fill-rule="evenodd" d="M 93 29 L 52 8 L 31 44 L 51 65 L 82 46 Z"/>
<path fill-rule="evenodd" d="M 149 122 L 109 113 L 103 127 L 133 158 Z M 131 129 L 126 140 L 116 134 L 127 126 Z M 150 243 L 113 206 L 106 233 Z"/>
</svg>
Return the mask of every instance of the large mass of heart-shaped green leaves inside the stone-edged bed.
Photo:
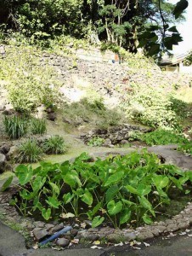
<svg viewBox="0 0 192 256">
<path fill-rule="evenodd" d="M 20 191 L 12 204 L 23 215 L 89 218 L 93 227 L 103 222 L 114 227 L 151 224 L 158 207 L 169 204 L 172 185 L 183 190 L 192 181 L 191 173 L 161 164 L 146 150 L 95 162 L 84 153 L 74 162 L 41 162 L 35 169 L 17 166 Z M 3 190 L 11 182 L 9 177 Z"/>
</svg>

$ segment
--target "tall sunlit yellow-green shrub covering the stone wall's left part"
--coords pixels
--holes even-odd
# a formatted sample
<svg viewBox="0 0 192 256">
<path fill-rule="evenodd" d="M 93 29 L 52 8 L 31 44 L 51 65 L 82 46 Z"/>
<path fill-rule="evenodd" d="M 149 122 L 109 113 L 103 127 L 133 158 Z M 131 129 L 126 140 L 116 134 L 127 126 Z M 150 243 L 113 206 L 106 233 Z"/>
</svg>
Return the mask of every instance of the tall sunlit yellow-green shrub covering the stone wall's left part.
<svg viewBox="0 0 192 256">
<path fill-rule="evenodd" d="M 18 112 L 30 113 L 44 103 L 59 103 L 59 82 L 54 69 L 41 65 L 35 48 L 8 48 L 0 60 L 0 79 L 6 81 L 8 99 Z"/>
</svg>

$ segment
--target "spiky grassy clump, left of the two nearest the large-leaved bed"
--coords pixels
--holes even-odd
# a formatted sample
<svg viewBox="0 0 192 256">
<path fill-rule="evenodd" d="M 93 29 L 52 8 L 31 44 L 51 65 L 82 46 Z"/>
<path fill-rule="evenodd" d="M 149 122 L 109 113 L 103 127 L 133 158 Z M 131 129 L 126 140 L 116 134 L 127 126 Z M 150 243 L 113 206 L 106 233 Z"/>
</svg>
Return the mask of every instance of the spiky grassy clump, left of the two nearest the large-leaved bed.
<svg viewBox="0 0 192 256">
<path fill-rule="evenodd" d="M 37 141 L 28 140 L 22 143 L 19 148 L 19 155 L 17 157 L 20 163 L 36 163 L 42 159 L 42 149 L 39 148 Z"/>
</svg>

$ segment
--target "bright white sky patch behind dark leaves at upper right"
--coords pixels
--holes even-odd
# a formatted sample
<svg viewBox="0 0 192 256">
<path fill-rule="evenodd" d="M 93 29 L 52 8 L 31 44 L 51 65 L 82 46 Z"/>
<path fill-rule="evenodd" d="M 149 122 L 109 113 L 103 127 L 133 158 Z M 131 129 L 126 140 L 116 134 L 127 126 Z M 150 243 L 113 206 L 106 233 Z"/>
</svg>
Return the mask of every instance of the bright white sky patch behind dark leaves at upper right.
<svg viewBox="0 0 192 256">
<path fill-rule="evenodd" d="M 178 0 L 167 0 L 168 3 L 178 3 Z M 178 32 L 181 33 L 184 41 L 177 46 L 173 46 L 174 54 L 183 54 L 192 49 L 192 0 L 189 0 L 189 6 L 184 15 L 186 20 L 177 25 Z"/>
</svg>

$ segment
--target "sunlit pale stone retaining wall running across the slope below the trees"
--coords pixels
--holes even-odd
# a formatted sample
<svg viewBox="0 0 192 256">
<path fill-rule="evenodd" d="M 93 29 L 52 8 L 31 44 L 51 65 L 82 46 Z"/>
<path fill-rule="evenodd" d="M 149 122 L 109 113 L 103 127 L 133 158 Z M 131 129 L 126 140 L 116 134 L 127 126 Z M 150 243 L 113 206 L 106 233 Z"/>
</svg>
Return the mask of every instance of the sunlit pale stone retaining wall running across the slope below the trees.
<svg viewBox="0 0 192 256">
<path fill-rule="evenodd" d="M 192 76 L 179 73 L 161 72 L 155 69 L 133 69 L 127 64 L 106 63 L 96 61 L 75 60 L 58 55 L 43 55 L 42 62 L 56 68 L 60 79 L 65 85 L 73 87 L 76 80 L 95 85 L 96 90 L 105 90 L 111 93 L 116 85 L 149 84 L 149 85 L 174 85 L 185 86 L 192 84 Z"/>
</svg>

